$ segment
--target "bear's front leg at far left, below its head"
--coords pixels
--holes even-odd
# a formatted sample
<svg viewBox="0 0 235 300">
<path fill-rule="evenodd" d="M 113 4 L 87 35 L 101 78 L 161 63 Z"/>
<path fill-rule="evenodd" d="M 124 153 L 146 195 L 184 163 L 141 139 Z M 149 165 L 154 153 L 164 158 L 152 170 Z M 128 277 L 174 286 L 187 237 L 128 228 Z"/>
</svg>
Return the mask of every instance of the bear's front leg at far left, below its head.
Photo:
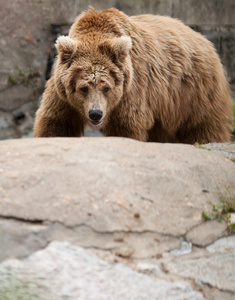
<svg viewBox="0 0 235 300">
<path fill-rule="evenodd" d="M 34 137 L 79 137 L 84 123 L 79 113 L 58 96 L 51 78 L 36 113 Z"/>
</svg>

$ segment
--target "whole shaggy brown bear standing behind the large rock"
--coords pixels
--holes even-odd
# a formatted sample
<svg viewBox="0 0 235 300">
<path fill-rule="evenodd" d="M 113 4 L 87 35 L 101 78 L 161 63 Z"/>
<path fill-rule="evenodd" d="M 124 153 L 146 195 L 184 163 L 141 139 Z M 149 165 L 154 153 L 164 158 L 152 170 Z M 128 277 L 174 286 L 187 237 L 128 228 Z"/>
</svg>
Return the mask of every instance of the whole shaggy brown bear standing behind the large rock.
<svg viewBox="0 0 235 300">
<path fill-rule="evenodd" d="M 232 101 L 219 57 L 180 21 L 90 8 L 56 48 L 35 137 L 79 137 L 89 124 L 140 141 L 229 141 Z"/>
</svg>

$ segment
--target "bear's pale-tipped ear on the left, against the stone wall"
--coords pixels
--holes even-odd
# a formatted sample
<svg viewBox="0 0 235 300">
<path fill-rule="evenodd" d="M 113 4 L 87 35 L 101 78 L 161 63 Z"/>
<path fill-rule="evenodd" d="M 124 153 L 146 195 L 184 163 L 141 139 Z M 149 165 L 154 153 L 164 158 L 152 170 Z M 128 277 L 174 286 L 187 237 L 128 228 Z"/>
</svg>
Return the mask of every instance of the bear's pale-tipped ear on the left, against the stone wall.
<svg viewBox="0 0 235 300">
<path fill-rule="evenodd" d="M 66 63 L 72 57 L 77 48 L 77 44 L 69 36 L 62 35 L 56 40 L 55 47 L 61 57 L 62 62 Z"/>
</svg>

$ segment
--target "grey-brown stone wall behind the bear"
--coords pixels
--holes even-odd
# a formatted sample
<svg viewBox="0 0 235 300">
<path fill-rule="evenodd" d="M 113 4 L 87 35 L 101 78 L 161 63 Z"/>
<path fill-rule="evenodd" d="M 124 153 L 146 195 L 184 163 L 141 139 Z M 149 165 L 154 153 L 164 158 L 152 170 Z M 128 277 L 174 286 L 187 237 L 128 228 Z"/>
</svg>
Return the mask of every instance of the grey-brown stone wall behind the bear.
<svg viewBox="0 0 235 300">
<path fill-rule="evenodd" d="M 0 0 L 0 139 L 32 131 L 54 40 L 89 5 L 181 19 L 215 44 L 235 91 L 234 0 Z"/>
</svg>

